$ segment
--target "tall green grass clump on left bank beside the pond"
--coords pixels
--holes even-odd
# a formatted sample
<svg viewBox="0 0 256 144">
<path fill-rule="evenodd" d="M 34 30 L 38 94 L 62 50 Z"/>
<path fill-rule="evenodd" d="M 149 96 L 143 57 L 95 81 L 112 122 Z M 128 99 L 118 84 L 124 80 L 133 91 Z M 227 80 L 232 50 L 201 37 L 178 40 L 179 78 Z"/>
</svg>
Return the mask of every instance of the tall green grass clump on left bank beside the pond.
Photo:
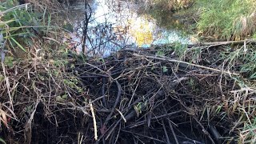
<svg viewBox="0 0 256 144">
<path fill-rule="evenodd" d="M 8 51 L 8 54 L 16 58 L 27 58 L 31 50 L 50 50 L 51 46 L 42 46 L 46 42 L 45 39 L 56 41 L 56 30 L 59 31 L 60 22 L 55 22 L 58 12 L 47 1 L 45 5 L 41 5 L 44 1 L 26 3 L 18 5 L 17 0 L 6 0 L 0 3 L 0 33 L 3 35 L 6 46 L 2 47 Z M 53 16 L 54 15 L 54 16 Z M 55 26 L 54 26 L 55 25 Z M 48 43 L 49 44 L 49 43 Z M 43 48 L 43 49 L 42 49 Z M 31 54 L 30 54 L 31 55 Z"/>
</svg>

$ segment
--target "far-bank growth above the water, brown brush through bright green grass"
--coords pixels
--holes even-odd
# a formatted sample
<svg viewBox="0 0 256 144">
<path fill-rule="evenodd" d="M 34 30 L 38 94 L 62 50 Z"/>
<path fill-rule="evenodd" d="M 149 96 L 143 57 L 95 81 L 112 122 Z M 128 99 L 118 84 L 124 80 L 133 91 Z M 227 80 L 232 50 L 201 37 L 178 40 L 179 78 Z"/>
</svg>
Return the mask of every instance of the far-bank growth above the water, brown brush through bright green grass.
<svg viewBox="0 0 256 144">
<path fill-rule="evenodd" d="M 256 12 L 254 9 L 256 2 L 254 0 L 150 0 L 146 2 L 146 6 L 148 13 L 165 27 L 181 26 L 180 23 L 175 22 L 182 18 L 175 19 L 172 14 L 184 11 L 186 18 L 182 21 L 194 19 L 197 24 L 193 25 L 189 21 L 190 25 L 196 27 L 203 36 L 210 36 L 216 40 L 256 38 Z"/>
</svg>

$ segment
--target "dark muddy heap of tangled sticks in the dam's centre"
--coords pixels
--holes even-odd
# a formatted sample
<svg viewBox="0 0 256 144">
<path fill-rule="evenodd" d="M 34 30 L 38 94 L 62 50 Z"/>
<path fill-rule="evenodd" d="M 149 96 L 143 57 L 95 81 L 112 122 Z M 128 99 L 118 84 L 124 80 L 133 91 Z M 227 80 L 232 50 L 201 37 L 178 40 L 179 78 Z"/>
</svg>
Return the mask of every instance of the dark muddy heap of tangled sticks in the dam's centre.
<svg viewBox="0 0 256 144">
<path fill-rule="evenodd" d="M 75 63 L 71 71 L 86 86 L 92 116 L 83 125 L 91 131 L 83 133 L 82 142 L 220 142 L 218 130 L 228 130 L 229 125 L 222 124 L 229 121 L 217 122 L 205 110 L 221 101 L 221 77 L 235 73 L 206 59 L 193 63 L 178 60 L 172 50 L 166 56 L 157 52 L 126 49 Z M 226 89 L 232 86 L 229 82 Z"/>
</svg>

